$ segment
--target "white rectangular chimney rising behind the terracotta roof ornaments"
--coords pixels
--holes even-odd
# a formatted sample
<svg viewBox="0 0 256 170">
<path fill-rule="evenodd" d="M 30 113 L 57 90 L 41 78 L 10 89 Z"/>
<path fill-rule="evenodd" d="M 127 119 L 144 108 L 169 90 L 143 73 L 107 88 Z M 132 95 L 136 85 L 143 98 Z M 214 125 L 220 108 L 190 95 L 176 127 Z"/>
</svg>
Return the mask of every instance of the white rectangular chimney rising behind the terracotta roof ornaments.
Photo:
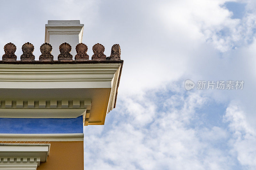
<svg viewBox="0 0 256 170">
<path fill-rule="evenodd" d="M 83 40 L 84 24 L 80 20 L 48 20 L 45 24 L 45 42 L 52 45 L 54 60 L 58 60 L 59 46 L 63 42 L 71 45 L 70 54 L 73 60 L 76 55 L 76 45 Z"/>
</svg>

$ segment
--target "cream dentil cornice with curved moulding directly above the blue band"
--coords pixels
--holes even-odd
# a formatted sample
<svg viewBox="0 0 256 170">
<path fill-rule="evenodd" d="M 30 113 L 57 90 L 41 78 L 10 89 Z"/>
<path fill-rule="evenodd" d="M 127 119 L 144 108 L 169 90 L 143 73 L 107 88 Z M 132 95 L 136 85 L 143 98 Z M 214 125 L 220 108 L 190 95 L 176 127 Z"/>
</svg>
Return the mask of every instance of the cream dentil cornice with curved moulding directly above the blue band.
<svg viewBox="0 0 256 170">
<path fill-rule="evenodd" d="M 76 118 L 91 109 L 91 100 L 1 100 L 2 118 Z"/>
</svg>

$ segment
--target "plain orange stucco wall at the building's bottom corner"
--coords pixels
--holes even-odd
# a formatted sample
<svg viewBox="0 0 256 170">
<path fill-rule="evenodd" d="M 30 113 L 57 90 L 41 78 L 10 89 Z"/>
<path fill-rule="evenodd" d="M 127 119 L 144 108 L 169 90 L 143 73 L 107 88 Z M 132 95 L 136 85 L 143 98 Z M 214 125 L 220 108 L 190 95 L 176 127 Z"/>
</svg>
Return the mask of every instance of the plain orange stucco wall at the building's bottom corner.
<svg viewBox="0 0 256 170">
<path fill-rule="evenodd" d="M 40 162 L 37 170 L 83 170 L 84 142 L 49 142 L 47 162 Z"/>
</svg>

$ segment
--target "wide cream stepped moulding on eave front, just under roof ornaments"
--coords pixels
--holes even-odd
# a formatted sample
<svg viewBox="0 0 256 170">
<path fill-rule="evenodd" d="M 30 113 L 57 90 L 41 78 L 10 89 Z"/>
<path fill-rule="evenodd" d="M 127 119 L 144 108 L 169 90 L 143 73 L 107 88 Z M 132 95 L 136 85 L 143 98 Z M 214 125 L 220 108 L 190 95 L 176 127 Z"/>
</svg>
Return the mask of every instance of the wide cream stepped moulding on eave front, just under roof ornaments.
<svg viewBox="0 0 256 170">
<path fill-rule="evenodd" d="M 0 64 L 0 88 L 111 88 L 121 63 Z"/>
</svg>

